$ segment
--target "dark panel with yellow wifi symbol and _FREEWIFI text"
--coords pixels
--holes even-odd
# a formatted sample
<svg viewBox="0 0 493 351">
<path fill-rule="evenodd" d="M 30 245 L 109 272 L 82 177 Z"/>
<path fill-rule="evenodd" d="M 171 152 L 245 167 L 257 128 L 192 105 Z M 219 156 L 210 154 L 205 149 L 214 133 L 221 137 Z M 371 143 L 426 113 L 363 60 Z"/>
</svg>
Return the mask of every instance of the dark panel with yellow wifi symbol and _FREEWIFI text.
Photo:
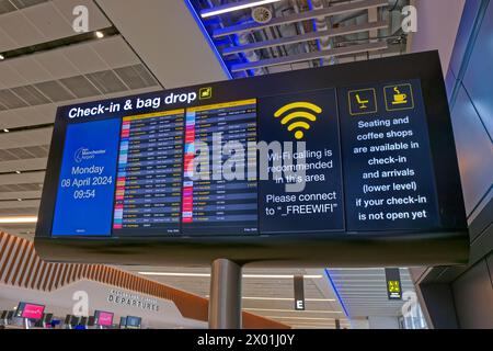
<svg viewBox="0 0 493 351">
<path fill-rule="evenodd" d="M 272 116 L 260 121 L 261 140 L 305 143 L 293 152 L 273 147 L 268 156 L 268 179 L 260 181 L 261 231 L 344 230 L 335 89 L 266 98 L 259 109 Z M 302 117 L 293 118 L 299 112 Z M 294 123 L 308 128 L 290 131 Z"/>
</svg>

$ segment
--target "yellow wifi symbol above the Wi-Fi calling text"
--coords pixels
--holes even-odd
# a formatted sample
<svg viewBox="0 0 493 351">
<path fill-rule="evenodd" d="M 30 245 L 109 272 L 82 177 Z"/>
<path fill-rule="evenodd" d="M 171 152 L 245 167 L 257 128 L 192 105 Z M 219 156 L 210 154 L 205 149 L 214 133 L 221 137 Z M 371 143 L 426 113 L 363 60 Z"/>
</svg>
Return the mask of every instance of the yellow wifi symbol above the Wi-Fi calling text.
<svg viewBox="0 0 493 351">
<path fill-rule="evenodd" d="M 299 110 L 293 111 L 295 109 L 306 109 L 311 112 L 299 111 Z M 290 111 L 293 111 L 293 112 L 290 112 Z M 279 110 L 277 110 L 276 113 L 274 113 L 274 116 L 276 118 L 279 118 L 287 112 L 290 112 L 290 113 L 280 120 L 280 124 L 282 125 L 287 124 L 289 132 L 295 131 L 295 138 L 297 138 L 299 140 L 305 137 L 305 132 L 301 129 L 309 131 L 310 124 L 308 123 L 308 121 L 316 122 L 317 116 L 314 115 L 314 113 L 317 113 L 317 114 L 322 113 L 322 109 L 320 109 L 319 106 L 317 106 L 316 104 L 312 104 L 310 102 L 293 102 L 293 103 L 289 103 L 289 104 L 280 107 Z M 302 118 L 305 121 L 299 121 L 299 118 Z"/>
</svg>

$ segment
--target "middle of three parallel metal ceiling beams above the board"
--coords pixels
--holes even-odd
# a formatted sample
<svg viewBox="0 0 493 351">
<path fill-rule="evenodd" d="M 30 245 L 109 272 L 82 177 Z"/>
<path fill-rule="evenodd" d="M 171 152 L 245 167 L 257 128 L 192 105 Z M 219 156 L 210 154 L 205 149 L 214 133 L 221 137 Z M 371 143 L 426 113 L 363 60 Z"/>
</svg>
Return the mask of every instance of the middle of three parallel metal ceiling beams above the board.
<svg viewBox="0 0 493 351">
<path fill-rule="evenodd" d="M 375 23 L 365 23 L 365 24 L 355 24 L 355 25 L 345 25 L 339 29 L 322 31 L 322 32 L 310 32 L 307 34 L 295 35 L 290 37 L 282 37 L 273 41 L 259 42 L 248 45 L 241 46 L 231 46 L 227 47 L 222 50 L 222 55 L 233 55 L 238 53 L 246 53 L 252 50 L 257 50 L 266 47 L 273 46 L 282 46 L 295 43 L 302 43 L 308 41 L 314 41 L 321 37 L 334 37 L 341 35 L 349 35 L 360 32 L 367 31 L 376 31 L 380 29 L 388 27 L 389 23 L 387 21 L 383 22 L 375 22 Z"/>
</svg>

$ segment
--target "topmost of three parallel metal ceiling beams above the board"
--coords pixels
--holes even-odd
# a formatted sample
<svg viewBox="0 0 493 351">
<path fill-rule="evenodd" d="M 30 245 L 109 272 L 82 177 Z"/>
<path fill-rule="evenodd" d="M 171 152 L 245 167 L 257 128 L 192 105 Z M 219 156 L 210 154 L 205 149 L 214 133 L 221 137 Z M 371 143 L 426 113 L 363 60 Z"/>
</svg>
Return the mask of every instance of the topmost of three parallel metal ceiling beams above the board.
<svg viewBox="0 0 493 351">
<path fill-rule="evenodd" d="M 358 2 L 349 2 L 344 4 L 337 4 L 330 8 L 321 9 L 321 10 L 314 10 L 314 11 L 306 11 L 297 14 L 286 15 L 286 16 L 279 16 L 273 19 L 268 23 L 244 23 L 244 24 L 237 24 L 231 25 L 223 29 L 218 29 L 213 32 L 213 36 L 215 38 L 227 36 L 230 34 L 238 34 L 243 32 L 253 32 L 257 30 L 262 30 L 270 26 L 275 25 L 282 25 L 282 24 L 289 24 L 300 21 L 308 21 L 313 20 L 316 18 L 322 18 L 322 16 L 330 16 L 330 15 L 336 15 L 341 13 L 346 12 L 354 12 L 354 11 L 362 11 L 362 10 L 368 10 L 371 8 L 380 8 L 388 5 L 388 0 L 364 0 Z"/>
</svg>

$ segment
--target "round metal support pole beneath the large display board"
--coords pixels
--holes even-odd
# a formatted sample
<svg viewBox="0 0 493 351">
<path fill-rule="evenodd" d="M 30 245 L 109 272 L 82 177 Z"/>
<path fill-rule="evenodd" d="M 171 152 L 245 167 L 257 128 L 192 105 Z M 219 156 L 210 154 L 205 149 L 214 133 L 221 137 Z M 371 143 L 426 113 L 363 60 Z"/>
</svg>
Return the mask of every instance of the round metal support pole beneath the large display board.
<svg viewBox="0 0 493 351">
<path fill-rule="evenodd" d="M 241 265 L 227 259 L 213 262 L 209 328 L 241 329 Z"/>
</svg>

